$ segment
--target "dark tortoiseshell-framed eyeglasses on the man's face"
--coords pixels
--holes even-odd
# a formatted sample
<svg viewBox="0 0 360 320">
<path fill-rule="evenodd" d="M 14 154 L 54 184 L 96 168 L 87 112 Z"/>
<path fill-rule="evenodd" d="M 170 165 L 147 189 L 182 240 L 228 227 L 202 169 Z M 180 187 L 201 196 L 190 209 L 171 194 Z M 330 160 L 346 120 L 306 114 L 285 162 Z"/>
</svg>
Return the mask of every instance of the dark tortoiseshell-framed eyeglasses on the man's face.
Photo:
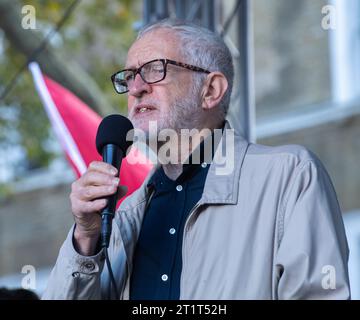
<svg viewBox="0 0 360 320">
<path fill-rule="evenodd" d="M 177 62 L 170 59 L 155 59 L 146 62 L 137 69 L 124 69 L 114 73 L 111 76 L 111 81 L 117 93 L 122 94 L 129 91 L 129 86 L 135 80 L 137 74 L 140 74 L 141 79 L 148 84 L 157 83 L 165 79 L 167 65 L 173 64 L 195 72 L 210 73 L 210 71 L 203 68 L 195 67 L 190 64 Z"/>
</svg>

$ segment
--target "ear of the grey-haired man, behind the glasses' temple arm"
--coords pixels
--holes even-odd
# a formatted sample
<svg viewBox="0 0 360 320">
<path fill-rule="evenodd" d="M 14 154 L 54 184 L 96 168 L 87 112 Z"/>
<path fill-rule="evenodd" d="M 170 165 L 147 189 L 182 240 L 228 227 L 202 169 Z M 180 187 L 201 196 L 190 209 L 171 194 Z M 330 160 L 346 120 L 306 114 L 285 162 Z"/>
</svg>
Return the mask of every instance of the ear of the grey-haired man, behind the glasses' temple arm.
<svg viewBox="0 0 360 320">
<path fill-rule="evenodd" d="M 216 71 L 208 74 L 202 89 L 201 107 L 203 109 L 216 107 L 223 98 L 228 85 L 228 81 L 223 73 Z"/>
</svg>

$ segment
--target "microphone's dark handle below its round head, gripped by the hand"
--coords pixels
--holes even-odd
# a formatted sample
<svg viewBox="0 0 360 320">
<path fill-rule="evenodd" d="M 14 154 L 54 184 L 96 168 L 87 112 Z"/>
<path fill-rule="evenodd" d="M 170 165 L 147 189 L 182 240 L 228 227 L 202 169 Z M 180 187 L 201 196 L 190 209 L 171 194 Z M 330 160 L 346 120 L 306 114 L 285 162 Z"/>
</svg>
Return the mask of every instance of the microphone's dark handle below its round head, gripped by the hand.
<svg viewBox="0 0 360 320">
<path fill-rule="evenodd" d="M 124 158 L 123 151 L 114 144 L 107 144 L 102 150 L 103 161 L 111 164 L 118 170 L 119 176 L 122 159 Z M 112 219 L 115 216 L 117 194 L 108 197 L 106 207 L 101 211 L 101 247 L 108 248 L 110 243 L 110 236 L 112 230 Z"/>
</svg>

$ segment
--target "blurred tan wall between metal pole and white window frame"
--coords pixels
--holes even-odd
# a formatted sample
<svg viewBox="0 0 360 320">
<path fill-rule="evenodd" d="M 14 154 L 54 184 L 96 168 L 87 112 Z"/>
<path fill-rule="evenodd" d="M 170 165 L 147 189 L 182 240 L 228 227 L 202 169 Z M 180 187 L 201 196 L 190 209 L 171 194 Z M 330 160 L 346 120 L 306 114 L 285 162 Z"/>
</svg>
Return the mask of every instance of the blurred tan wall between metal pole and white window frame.
<svg viewBox="0 0 360 320">
<path fill-rule="evenodd" d="M 326 0 L 255 0 L 256 117 L 302 111 L 331 100 L 329 30 L 322 28 Z"/>
</svg>

